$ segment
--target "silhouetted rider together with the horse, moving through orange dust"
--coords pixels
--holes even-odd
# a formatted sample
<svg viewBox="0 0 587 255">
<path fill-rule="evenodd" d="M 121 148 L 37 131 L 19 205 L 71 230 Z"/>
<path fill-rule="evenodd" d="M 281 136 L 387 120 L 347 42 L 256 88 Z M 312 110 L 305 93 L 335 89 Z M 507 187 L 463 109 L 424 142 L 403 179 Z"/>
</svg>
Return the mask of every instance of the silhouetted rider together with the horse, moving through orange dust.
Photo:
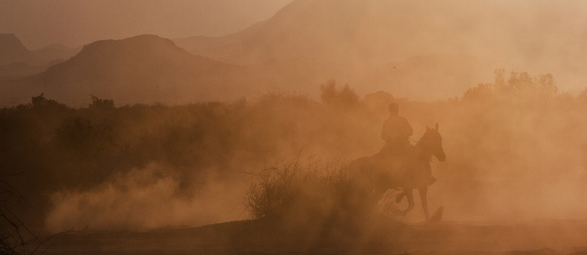
<svg viewBox="0 0 587 255">
<path fill-rule="evenodd" d="M 426 127 L 422 138 L 416 145 L 411 145 L 412 127 L 398 113 L 396 103 L 389 105 L 389 118 L 383 123 L 381 131 L 381 138 L 386 144 L 381 151 L 373 156 L 356 159 L 349 165 L 349 176 L 356 190 L 349 203 L 357 205 L 359 210 L 362 208 L 368 211 L 387 190 L 399 190 L 402 193 L 396 198 L 396 203 L 405 196 L 408 207 L 396 213 L 405 215 L 414 207 L 412 190 L 418 189 L 428 221 L 427 187 L 436 181 L 431 175 L 430 160 L 432 155 L 439 161 L 445 160 L 439 125 L 436 123 L 434 128 Z M 437 214 L 442 214 L 441 208 Z M 432 221 L 439 217 L 433 217 Z"/>
</svg>

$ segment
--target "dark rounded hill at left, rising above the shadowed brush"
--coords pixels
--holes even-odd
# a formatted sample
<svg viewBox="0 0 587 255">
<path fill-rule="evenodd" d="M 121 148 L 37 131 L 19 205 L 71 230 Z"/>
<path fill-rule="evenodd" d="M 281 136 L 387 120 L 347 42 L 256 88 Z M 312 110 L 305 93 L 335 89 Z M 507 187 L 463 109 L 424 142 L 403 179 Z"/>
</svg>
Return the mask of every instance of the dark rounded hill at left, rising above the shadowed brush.
<svg viewBox="0 0 587 255">
<path fill-rule="evenodd" d="M 8 104 L 26 103 L 44 92 L 51 99 L 86 106 L 90 95 L 126 103 L 189 103 L 214 99 L 227 90 L 242 70 L 204 57 L 196 57 L 173 41 L 155 35 L 96 41 L 68 61 L 14 81 Z"/>
</svg>

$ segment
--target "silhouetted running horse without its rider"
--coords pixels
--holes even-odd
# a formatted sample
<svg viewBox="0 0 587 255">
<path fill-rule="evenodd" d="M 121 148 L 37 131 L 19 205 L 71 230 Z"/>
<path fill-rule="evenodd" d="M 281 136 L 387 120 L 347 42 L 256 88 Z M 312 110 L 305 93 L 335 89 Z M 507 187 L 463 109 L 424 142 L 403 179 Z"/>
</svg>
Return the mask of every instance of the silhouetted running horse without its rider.
<svg viewBox="0 0 587 255">
<path fill-rule="evenodd" d="M 414 208 L 412 190 L 418 189 L 426 221 L 429 221 L 426 193 L 428 185 L 432 184 L 430 160 L 432 155 L 439 161 L 446 159 L 438 130 L 438 123 L 435 128 L 426 126 L 425 134 L 405 155 L 387 156 L 384 152 L 379 152 L 352 161 L 349 175 L 355 183 L 361 205 L 376 204 L 389 189 L 403 190 L 408 201 L 407 208 L 398 212 L 403 216 Z M 402 196 L 398 196 L 396 201 L 401 201 L 401 198 Z"/>
</svg>

